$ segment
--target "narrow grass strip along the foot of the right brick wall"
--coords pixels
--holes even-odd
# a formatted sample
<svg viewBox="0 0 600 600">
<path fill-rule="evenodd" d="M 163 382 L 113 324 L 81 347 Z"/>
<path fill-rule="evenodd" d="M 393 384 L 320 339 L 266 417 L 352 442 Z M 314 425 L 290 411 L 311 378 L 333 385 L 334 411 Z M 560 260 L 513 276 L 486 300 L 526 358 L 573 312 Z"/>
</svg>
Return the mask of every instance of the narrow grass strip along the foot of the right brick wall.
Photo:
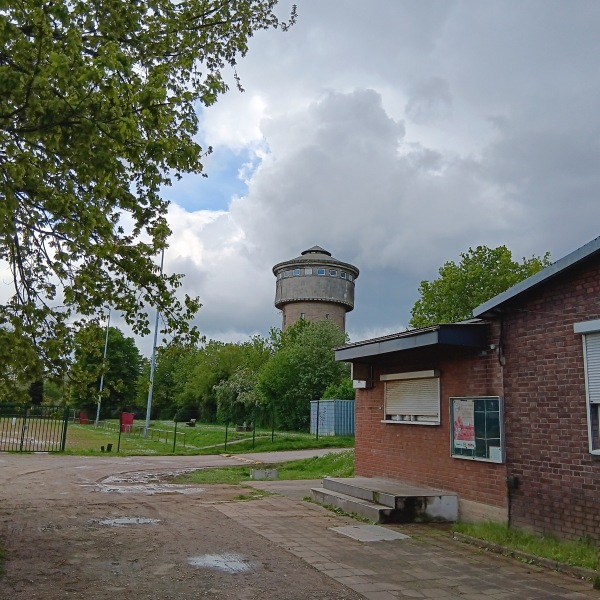
<svg viewBox="0 0 600 600">
<path fill-rule="evenodd" d="M 566 565 L 586 569 L 598 566 L 598 547 L 590 540 L 569 542 L 493 522 L 456 523 L 454 531 Z"/>
</svg>

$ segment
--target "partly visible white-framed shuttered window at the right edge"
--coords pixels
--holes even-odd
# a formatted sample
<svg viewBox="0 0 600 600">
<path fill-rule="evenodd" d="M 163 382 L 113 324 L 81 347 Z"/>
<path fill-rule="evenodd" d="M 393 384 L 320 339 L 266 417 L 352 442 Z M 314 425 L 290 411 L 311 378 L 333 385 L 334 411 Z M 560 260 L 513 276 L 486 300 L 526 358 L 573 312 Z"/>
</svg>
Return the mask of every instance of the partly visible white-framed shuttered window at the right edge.
<svg viewBox="0 0 600 600">
<path fill-rule="evenodd" d="M 585 374 L 585 403 L 590 454 L 600 455 L 600 319 L 575 323 L 581 334 Z"/>
</svg>

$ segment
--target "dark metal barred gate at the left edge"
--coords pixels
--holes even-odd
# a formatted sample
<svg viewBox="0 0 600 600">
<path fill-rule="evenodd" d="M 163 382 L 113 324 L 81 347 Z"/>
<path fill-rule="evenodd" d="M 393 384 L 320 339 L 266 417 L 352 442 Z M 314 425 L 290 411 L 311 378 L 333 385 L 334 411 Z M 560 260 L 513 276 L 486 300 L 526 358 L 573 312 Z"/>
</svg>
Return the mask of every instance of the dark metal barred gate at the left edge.
<svg viewBox="0 0 600 600">
<path fill-rule="evenodd" d="M 62 452 L 69 408 L 0 404 L 0 452 Z"/>
</svg>

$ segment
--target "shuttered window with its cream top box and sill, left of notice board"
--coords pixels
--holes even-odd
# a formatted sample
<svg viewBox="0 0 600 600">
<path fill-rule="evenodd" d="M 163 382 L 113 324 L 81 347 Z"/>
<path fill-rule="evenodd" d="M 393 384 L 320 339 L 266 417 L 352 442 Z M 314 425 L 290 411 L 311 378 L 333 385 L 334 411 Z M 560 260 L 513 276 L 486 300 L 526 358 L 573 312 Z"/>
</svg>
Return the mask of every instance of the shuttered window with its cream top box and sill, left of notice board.
<svg viewBox="0 0 600 600">
<path fill-rule="evenodd" d="M 440 378 L 435 370 L 410 371 L 381 375 L 384 382 L 384 412 L 382 423 L 394 425 L 440 425 Z M 399 395 L 390 407 L 388 395 Z M 404 403 L 404 406 L 400 404 Z M 419 406 L 422 408 L 419 409 Z M 400 410 L 398 410 L 400 409 Z M 392 412 L 392 410 L 394 412 Z"/>
</svg>

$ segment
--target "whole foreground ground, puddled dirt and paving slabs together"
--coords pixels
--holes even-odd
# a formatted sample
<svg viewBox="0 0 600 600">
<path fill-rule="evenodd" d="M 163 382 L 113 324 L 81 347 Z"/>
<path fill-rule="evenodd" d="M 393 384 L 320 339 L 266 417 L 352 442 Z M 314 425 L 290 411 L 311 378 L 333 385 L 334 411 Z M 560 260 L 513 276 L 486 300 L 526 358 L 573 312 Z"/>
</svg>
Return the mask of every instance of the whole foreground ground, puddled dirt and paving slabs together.
<svg viewBox="0 0 600 600">
<path fill-rule="evenodd" d="M 8 550 L 0 598 L 100 600 L 135 589 L 138 598 L 174 600 L 600 599 L 588 581 L 455 542 L 445 527 L 388 526 L 410 536 L 393 541 L 342 536 L 334 528 L 360 524 L 303 501 L 312 482 L 253 482 L 282 495 L 248 502 L 236 501 L 239 490 L 231 486 L 176 493 L 161 483 L 179 470 L 316 453 L 0 456 L 0 536 Z M 119 519 L 134 510 L 139 518 L 168 524 L 168 535 L 143 527 L 107 533 L 97 519 L 90 520 Z M 29 554 L 21 552 L 21 538 Z M 66 558 L 50 564 L 51 552 Z M 227 568 L 211 570 L 200 560 L 207 556 L 224 557 Z"/>
</svg>

